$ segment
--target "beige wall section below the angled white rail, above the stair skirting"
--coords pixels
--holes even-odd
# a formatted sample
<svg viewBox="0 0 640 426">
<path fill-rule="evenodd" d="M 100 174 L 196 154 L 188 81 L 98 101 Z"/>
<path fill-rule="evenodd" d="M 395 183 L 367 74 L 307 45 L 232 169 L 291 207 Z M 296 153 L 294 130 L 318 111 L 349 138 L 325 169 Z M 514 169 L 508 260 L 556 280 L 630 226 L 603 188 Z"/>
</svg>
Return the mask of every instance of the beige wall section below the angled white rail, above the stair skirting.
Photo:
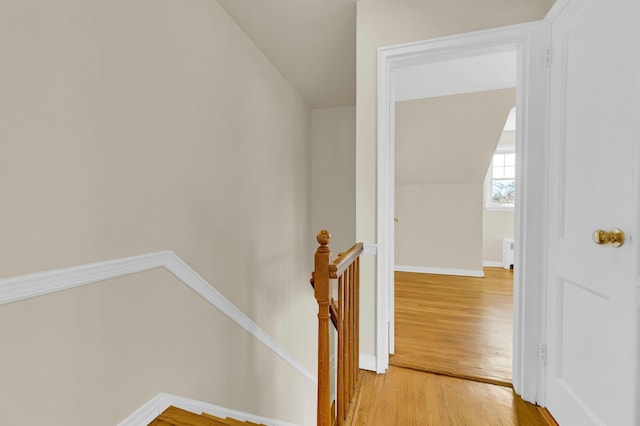
<svg viewBox="0 0 640 426">
<path fill-rule="evenodd" d="M 0 335 L 3 425 L 113 426 L 159 392 L 315 421 L 315 385 L 162 268 L 3 306 Z"/>
</svg>

